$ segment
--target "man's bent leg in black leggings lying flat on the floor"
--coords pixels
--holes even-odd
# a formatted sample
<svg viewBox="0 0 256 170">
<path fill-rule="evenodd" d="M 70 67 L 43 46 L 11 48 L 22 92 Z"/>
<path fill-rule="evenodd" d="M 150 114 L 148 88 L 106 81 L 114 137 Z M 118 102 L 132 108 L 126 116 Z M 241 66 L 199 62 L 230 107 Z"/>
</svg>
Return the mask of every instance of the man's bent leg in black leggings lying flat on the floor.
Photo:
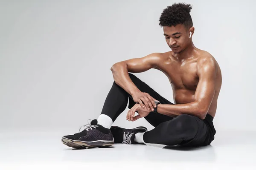
<svg viewBox="0 0 256 170">
<path fill-rule="evenodd" d="M 207 127 L 203 120 L 182 114 L 145 132 L 143 140 L 151 144 L 200 146 L 206 136 Z"/>
</svg>

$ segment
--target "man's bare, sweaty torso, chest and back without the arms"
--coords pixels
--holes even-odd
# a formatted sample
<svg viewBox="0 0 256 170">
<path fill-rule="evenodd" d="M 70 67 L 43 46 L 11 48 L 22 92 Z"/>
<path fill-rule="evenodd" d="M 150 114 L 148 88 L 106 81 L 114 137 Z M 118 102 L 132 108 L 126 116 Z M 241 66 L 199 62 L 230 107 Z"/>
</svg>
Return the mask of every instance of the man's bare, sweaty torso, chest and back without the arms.
<svg viewBox="0 0 256 170">
<path fill-rule="evenodd" d="M 199 81 L 199 77 L 196 74 L 197 61 L 201 57 L 209 56 L 212 57 L 212 55 L 210 55 L 207 51 L 203 51 L 198 48 L 191 57 L 182 61 L 179 61 L 174 57 L 173 51 L 163 53 L 163 62 L 161 62 L 163 64 L 159 65 L 156 69 L 162 71 L 169 78 L 172 85 L 175 104 L 185 104 L 195 101 L 194 95 Z M 212 58 L 214 59 L 214 57 Z M 214 61 L 217 63 L 215 59 Z M 212 117 L 214 117 L 216 113 L 217 99 L 221 89 L 221 82 L 221 69 L 218 65 L 215 79 L 215 94 L 207 112 Z"/>
</svg>

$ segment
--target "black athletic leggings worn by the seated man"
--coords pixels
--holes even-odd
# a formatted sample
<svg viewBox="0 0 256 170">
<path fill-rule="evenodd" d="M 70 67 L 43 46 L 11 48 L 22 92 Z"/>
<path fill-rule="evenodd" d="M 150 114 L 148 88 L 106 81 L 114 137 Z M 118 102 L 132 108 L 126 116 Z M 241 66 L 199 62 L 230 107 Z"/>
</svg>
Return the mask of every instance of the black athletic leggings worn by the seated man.
<svg viewBox="0 0 256 170">
<path fill-rule="evenodd" d="M 150 94 L 150 96 L 159 100 L 161 104 L 174 105 L 172 102 L 169 102 L 167 99 L 160 96 L 160 94 L 150 88 L 134 74 L 129 73 L 129 76 L 140 91 Z M 113 82 L 101 114 L 110 116 L 114 122 L 125 110 L 127 103 L 129 109 L 136 104 L 130 94 L 117 85 L 116 82 Z M 188 114 L 182 114 L 173 118 L 160 113 L 156 114 L 150 112 L 145 119 L 155 127 L 154 129 L 145 132 L 143 135 L 145 143 L 206 146 L 212 142 L 216 133 L 212 122 L 213 117 L 209 114 L 202 120 L 196 116 Z"/>
</svg>

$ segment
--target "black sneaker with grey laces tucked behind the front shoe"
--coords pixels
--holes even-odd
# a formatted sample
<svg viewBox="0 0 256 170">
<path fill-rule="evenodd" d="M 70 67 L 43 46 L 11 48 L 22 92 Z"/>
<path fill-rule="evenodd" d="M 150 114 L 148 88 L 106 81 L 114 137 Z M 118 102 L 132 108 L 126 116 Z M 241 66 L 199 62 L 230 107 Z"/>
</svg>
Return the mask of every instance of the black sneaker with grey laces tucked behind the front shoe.
<svg viewBox="0 0 256 170">
<path fill-rule="evenodd" d="M 118 126 L 111 126 L 110 128 L 115 143 L 123 143 L 123 144 L 139 144 L 134 141 L 135 134 L 138 132 L 146 132 L 148 129 L 143 126 L 139 126 L 133 129 L 125 129 Z"/>
</svg>

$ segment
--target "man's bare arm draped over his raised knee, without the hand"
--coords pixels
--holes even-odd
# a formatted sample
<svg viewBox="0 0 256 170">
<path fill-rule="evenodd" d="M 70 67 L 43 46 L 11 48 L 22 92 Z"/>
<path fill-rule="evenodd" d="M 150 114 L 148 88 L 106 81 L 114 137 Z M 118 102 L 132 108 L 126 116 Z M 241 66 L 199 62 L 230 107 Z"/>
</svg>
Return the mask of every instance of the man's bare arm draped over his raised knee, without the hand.
<svg viewBox="0 0 256 170">
<path fill-rule="evenodd" d="M 134 85 L 128 72 L 141 73 L 151 68 L 158 69 L 157 66 L 162 59 L 161 55 L 162 53 L 152 53 L 142 58 L 128 59 L 115 63 L 111 67 L 114 81 L 132 96 L 140 90 Z"/>
</svg>

